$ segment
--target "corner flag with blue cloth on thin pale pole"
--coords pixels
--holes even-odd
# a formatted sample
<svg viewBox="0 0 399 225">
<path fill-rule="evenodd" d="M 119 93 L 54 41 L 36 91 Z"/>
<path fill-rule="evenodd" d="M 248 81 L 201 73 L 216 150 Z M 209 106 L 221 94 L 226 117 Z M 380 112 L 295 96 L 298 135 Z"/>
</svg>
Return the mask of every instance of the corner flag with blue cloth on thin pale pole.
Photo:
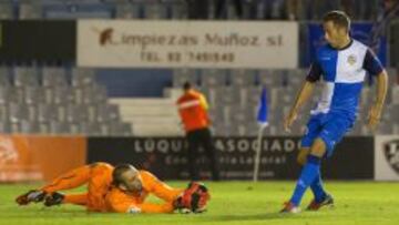
<svg viewBox="0 0 399 225">
<path fill-rule="evenodd" d="M 262 153 L 262 136 L 267 122 L 267 94 L 266 88 L 263 88 L 259 99 L 259 109 L 257 113 L 257 122 L 259 124 L 259 132 L 257 136 L 257 149 L 254 158 L 254 182 L 257 182 L 259 175 L 260 153 Z"/>
</svg>

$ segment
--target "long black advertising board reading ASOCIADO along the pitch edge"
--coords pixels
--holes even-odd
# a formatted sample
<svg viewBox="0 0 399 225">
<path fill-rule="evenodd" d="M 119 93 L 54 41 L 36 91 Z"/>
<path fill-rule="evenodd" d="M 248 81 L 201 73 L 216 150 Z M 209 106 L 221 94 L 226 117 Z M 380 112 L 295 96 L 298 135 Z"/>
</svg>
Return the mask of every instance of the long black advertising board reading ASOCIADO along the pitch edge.
<svg viewBox="0 0 399 225">
<path fill-rule="evenodd" d="M 298 136 L 263 140 L 260 180 L 294 180 L 300 167 L 296 163 Z M 221 176 L 224 180 L 250 180 L 254 170 L 256 137 L 216 137 Z M 88 163 L 132 163 L 163 180 L 187 180 L 187 144 L 182 137 L 90 137 Z M 205 155 L 197 158 L 202 176 L 209 177 Z M 374 178 L 374 139 L 347 137 L 337 145 L 332 157 L 323 161 L 327 178 Z"/>
</svg>

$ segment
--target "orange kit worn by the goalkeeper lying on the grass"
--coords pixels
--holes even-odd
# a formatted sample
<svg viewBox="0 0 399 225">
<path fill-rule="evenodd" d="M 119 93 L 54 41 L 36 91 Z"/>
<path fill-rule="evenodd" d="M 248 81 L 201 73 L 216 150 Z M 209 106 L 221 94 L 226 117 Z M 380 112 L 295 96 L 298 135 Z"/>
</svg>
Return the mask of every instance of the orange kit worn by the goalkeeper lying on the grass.
<svg viewBox="0 0 399 225">
<path fill-rule="evenodd" d="M 41 190 L 53 193 L 88 184 L 88 193 L 65 195 L 64 203 L 85 205 L 89 211 L 94 212 L 168 213 L 173 211 L 172 203 L 182 190 L 167 186 L 147 171 L 139 171 L 143 190 L 136 194 L 123 192 L 112 185 L 113 170 L 114 167 L 106 163 L 85 165 L 61 175 Z M 165 203 L 144 203 L 149 194 L 154 194 Z"/>
</svg>

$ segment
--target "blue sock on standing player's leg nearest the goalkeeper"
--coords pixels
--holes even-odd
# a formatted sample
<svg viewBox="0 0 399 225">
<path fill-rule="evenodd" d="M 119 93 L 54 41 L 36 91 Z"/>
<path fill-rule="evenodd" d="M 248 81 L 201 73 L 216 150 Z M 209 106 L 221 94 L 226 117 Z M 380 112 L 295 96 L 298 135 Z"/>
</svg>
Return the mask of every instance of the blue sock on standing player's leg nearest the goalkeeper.
<svg viewBox="0 0 399 225">
<path fill-rule="evenodd" d="M 315 182 L 317 177 L 319 177 L 319 175 L 320 175 L 320 158 L 314 155 L 308 155 L 307 163 L 301 170 L 299 180 L 297 182 L 294 194 L 289 202 L 298 206 L 306 190 L 310 186 L 310 184 Z M 321 184 L 321 182 L 317 182 L 317 184 Z M 315 184 L 315 187 L 317 188 L 318 185 Z"/>
</svg>

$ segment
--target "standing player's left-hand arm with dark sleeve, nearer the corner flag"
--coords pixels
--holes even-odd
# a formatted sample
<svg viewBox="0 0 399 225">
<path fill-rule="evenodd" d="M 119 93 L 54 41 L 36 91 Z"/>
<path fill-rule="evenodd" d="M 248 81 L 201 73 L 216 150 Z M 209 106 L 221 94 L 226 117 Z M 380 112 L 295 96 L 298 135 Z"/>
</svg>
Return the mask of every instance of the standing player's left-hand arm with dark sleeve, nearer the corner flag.
<svg viewBox="0 0 399 225">
<path fill-rule="evenodd" d="M 299 93 L 295 100 L 295 103 L 289 111 L 289 114 L 284 121 L 284 129 L 289 131 L 289 126 L 296 120 L 300 108 L 309 100 L 314 89 L 315 82 L 320 79 L 321 68 L 317 62 L 314 62 L 310 67 L 309 74 L 306 76 L 306 81 L 299 90 Z"/>
</svg>

